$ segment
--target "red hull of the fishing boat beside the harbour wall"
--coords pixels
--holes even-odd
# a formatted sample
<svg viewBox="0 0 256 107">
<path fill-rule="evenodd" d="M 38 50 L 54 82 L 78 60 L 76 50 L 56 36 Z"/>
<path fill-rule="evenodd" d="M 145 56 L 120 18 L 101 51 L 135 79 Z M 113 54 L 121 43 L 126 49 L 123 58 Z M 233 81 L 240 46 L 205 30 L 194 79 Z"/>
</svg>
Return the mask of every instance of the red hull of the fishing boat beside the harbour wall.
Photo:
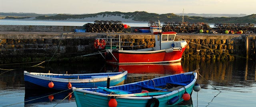
<svg viewBox="0 0 256 107">
<path fill-rule="evenodd" d="M 113 64 L 147 64 L 147 63 L 172 63 L 180 62 L 186 46 L 182 49 L 166 52 L 160 51 L 112 51 L 112 58 L 106 58 L 106 62 Z M 110 54 L 110 53 L 108 53 Z M 111 55 L 112 55 L 111 54 Z M 109 56 L 111 56 L 109 55 Z"/>
</svg>

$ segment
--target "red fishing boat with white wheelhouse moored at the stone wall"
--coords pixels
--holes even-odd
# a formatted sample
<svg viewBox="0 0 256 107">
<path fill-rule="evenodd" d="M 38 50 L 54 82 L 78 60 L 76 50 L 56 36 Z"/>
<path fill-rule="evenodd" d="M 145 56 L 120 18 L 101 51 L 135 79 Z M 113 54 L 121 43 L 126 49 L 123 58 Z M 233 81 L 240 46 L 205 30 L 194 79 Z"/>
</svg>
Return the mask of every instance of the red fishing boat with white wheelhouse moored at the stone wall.
<svg viewBox="0 0 256 107">
<path fill-rule="evenodd" d="M 154 32 L 155 47 L 122 50 L 106 49 L 106 62 L 113 64 L 148 64 L 180 62 L 186 49 L 186 41 L 174 41 L 176 32 Z M 120 43 L 119 43 L 120 44 Z M 122 47 L 122 46 L 118 46 Z"/>
</svg>

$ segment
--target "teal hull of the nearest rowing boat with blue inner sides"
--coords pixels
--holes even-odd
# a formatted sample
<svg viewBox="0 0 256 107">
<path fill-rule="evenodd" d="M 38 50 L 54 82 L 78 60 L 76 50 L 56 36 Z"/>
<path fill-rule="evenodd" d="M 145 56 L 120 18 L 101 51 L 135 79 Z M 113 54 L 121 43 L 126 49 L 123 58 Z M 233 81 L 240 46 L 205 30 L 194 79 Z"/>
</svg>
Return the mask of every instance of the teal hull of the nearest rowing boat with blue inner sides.
<svg viewBox="0 0 256 107">
<path fill-rule="evenodd" d="M 130 84 L 124 84 L 121 86 L 113 86 L 110 87 L 110 89 L 117 89 L 117 90 L 125 90 L 125 91 L 133 91 L 132 93 L 136 93 L 136 89 L 140 88 L 140 86 L 137 86 L 138 84 L 146 84 L 148 83 L 148 86 L 152 86 L 154 81 L 154 85 L 162 85 L 164 82 L 180 82 L 180 84 L 185 85 L 181 86 L 178 90 L 169 91 L 165 94 L 156 95 L 156 96 L 128 96 L 130 94 L 127 94 L 127 96 L 124 94 L 123 96 L 116 96 L 114 97 L 117 101 L 117 107 L 148 107 L 147 103 L 152 101 L 151 99 L 155 98 L 159 101 L 158 107 L 170 107 L 173 105 L 176 105 L 184 99 L 182 99 L 182 95 L 185 93 L 185 91 L 189 94 L 192 93 L 194 83 L 196 82 L 197 74 L 192 72 L 184 73 L 187 76 L 184 76 L 183 74 L 176 74 L 174 78 L 165 76 L 164 78 L 154 78 L 151 80 L 145 80 L 142 82 L 135 82 Z M 188 76 L 188 75 L 194 75 L 194 76 Z M 170 80 L 170 78 L 172 78 Z M 190 80 L 190 81 L 189 81 Z M 182 83 L 183 82 L 183 83 Z M 153 86 L 154 86 L 153 85 Z M 111 93 L 100 93 L 97 91 L 88 91 L 88 89 L 80 89 L 80 88 L 72 88 L 74 91 L 74 96 L 76 99 L 76 105 L 77 107 L 109 107 L 108 103 L 110 101 Z M 135 92 L 134 92 L 135 91 Z M 158 93 L 159 91 L 156 91 Z M 143 93 L 142 93 L 143 94 Z M 168 104 L 169 100 L 172 100 L 176 98 L 176 101 L 172 104 Z M 155 101 L 153 100 L 152 105 L 154 105 Z"/>
</svg>

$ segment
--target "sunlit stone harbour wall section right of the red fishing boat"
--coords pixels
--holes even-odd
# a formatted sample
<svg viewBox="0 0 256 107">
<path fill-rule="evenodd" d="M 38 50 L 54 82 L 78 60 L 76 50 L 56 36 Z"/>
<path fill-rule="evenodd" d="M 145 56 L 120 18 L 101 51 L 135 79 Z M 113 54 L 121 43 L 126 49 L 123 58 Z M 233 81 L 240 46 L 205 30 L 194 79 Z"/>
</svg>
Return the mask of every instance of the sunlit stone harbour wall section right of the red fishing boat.
<svg viewBox="0 0 256 107">
<path fill-rule="evenodd" d="M 178 37 L 189 43 L 182 60 L 234 60 L 246 57 L 245 35 L 182 35 Z"/>
</svg>

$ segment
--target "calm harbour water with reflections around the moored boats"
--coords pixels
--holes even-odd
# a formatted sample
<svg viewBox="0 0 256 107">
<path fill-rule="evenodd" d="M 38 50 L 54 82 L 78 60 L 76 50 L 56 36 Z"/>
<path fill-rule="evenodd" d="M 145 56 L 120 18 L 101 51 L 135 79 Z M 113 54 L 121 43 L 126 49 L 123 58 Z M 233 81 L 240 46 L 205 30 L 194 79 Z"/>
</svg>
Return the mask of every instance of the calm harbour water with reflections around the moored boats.
<svg viewBox="0 0 256 107">
<path fill-rule="evenodd" d="M 128 70 L 125 83 L 147 80 L 164 75 L 178 74 L 200 68 L 198 83 L 199 92 L 192 93 L 192 104 L 189 107 L 252 107 L 256 96 L 256 66 L 254 62 L 245 60 L 234 62 L 181 62 L 175 64 L 149 64 L 132 66 L 112 66 L 93 63 L 52 63 L 41 64 L 34 68 L 25 66 L 0 66 L 0 68 L 20 68 L 0 75 L 0 107 L 75 107 L 74 95 L 67 97 L 69 92 L 37 92 L 26 91 L 24 88 L 23 71 L 52 73 L 94 73 L 110 72 L 121 69 Z M 140 72 L 138 72 L 140 71 Z M 1 70 L 3 73 L 4 70 Z M 220 92 L 221 91 L 221 92 Z M 53 93 L 53 96 L 49 96 Z M 216 96 L 216 97 L 214 97 Z M 67 97 L 66 99 L 64 99 Z M 53 98 L 53 99 L 52 99 Z M 34 100 L 36 99 L 36 100 Z M 62 101 L 62 99 L 64 99 Z M 31 101 L 30 101 L 31 100 Z M 24 101 L 28 101 L 25 102 Z M 15 104 L 15 105 L 13 105 Z M 177 107 L 183 107 L 179 105 Z"/>
</svg>

